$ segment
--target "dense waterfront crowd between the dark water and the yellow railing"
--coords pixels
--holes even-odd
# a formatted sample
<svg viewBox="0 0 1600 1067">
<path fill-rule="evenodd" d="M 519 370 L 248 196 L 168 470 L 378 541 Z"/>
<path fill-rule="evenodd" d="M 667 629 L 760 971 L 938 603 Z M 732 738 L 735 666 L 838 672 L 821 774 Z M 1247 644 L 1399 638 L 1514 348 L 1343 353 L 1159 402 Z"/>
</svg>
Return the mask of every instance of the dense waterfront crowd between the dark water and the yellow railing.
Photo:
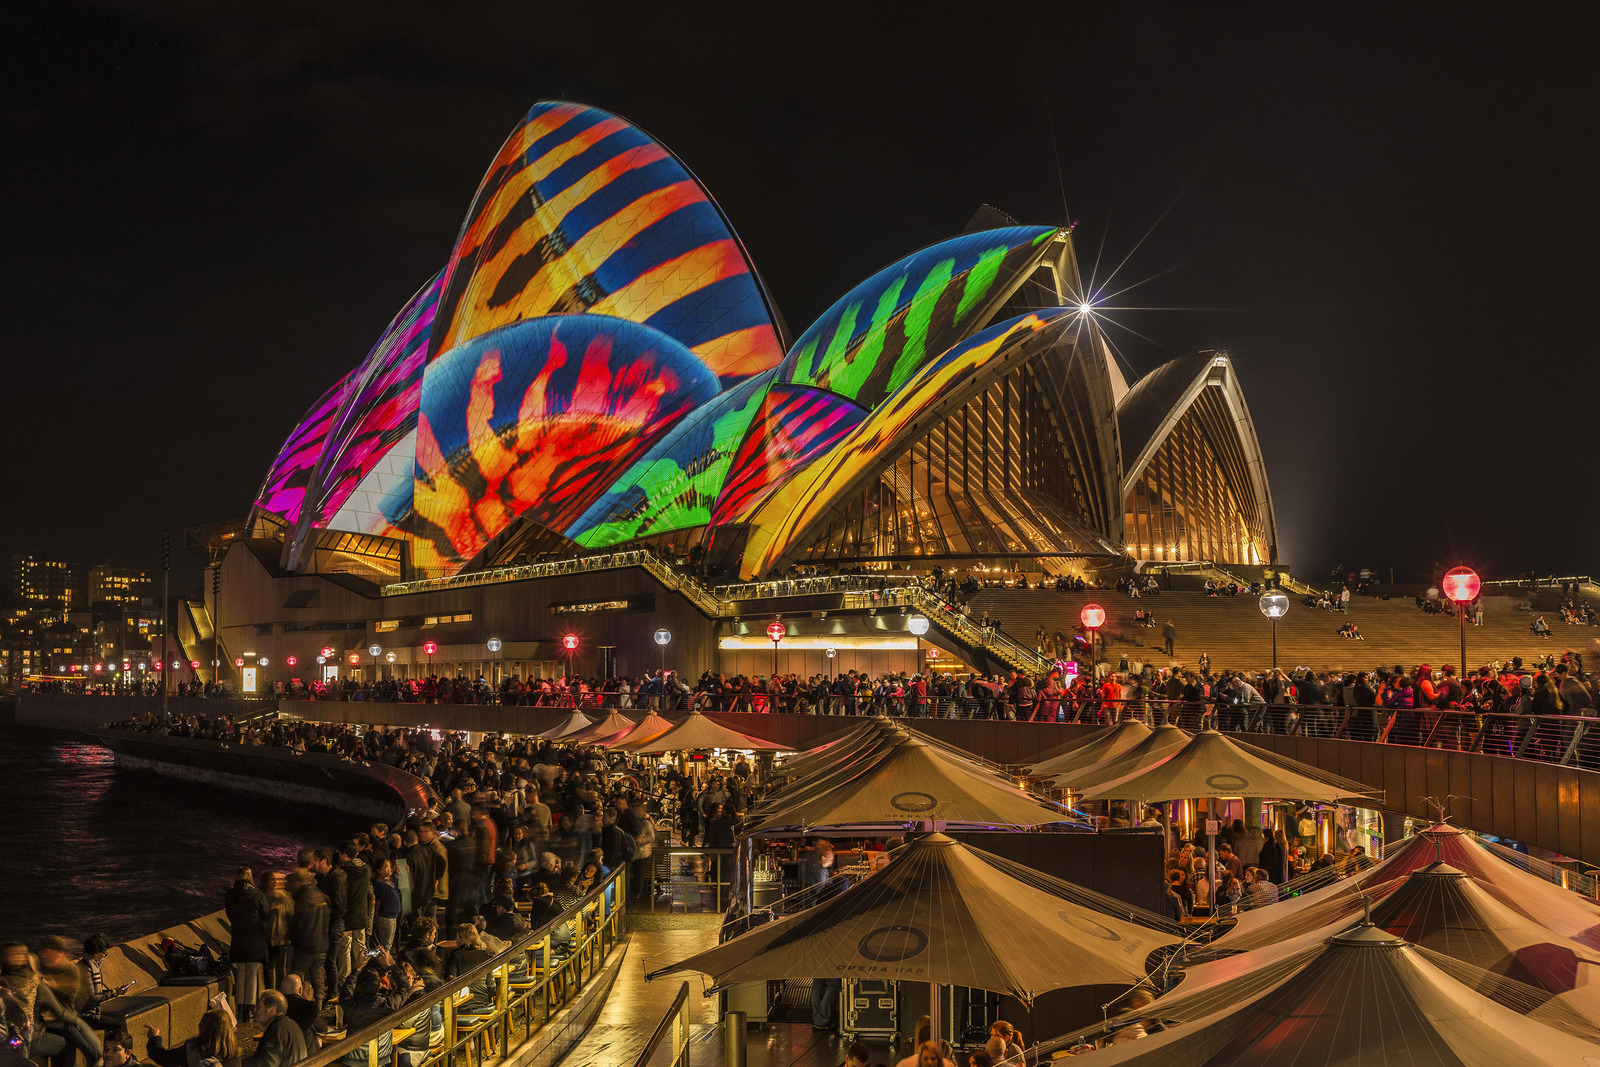
<svg viewBox="0 0 1600 1067">
<path fill-rule="evenodd" d="M 227 965 L 240 1017 L 261 1030 L 256 1051 L 240 1057 L 232 1017 L 211 1013 L 184 1048 L 166 1049 L 158 1032 L 149 1035 L 150 1059 L 163 1067 L 195 1067 L 198 1059 L 184 1061 L 195 1051 L 222 1067 L 288 1067 L 318 1040 L 403 1013 L 472 971 L 579 904 L 621 864 L 629 865 L 629 891 L 648 896 L 658 843 L 731 848 L 739 819 L 762 793 L 742 758 L 701 781 L 638 757 L 534 737 L 469 745 L 458 733 L 235 720 L 226 712 L 149 713 L 110 728 L 382 763 L 427 781 L 435 797 L 400 825 L 374 822 L 349 840 L 302 849 L 293 870 L 258 877 L 240 867 L 222 901 L 232 931 Z M 571 925 L 557 926 L 550 944 L 552 957 L 570 953 Z M 96 1005 L 123 992 L 101 981 L 110 949 L 101 936 L 82 953 L 59 937 L 32 950 L 0 947 L 0 1001 L 14 1048 L 53 1054 L 70 1045 L 90 1067 L 128 1062 L 126 1033 L 94 1029 Z M 485 981 L 458 1014 L 491 1005 Z M 442 1025 L 437 1006 L 421 1011 L 398 1062 L 419 1062 L 430 1043 L 437 1049 Z M 362 1051 L 352 1067 L 365 1062 Z"/>
</svg>

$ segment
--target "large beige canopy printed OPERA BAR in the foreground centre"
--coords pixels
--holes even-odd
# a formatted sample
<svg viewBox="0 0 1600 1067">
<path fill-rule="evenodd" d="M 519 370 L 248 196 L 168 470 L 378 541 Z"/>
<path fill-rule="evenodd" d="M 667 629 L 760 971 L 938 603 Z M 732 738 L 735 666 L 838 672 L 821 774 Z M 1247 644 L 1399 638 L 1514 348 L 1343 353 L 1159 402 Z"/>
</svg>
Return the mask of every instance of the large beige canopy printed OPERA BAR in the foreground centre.
<svg viewBox="0 0 1600 1067">
<path fill-rule="evenodd" d="M 651 973 L 714 989 L 773 977 L 872 977 L 971 985 L 1024 1003 L 1069 985 L 1134 984 L 1178 937 L 1008 878 L 944 833 L 894 849 L 861 885 Z"/>
</svg>

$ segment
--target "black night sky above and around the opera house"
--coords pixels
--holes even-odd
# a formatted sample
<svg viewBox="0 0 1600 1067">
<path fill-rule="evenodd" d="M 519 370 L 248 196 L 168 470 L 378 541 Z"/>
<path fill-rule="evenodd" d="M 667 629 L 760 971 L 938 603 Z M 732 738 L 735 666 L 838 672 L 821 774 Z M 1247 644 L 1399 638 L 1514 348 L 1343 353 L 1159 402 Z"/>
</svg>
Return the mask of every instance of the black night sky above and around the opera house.
<svg viewBox="0 0 1600 1067">
<path fill-rule="evenodd" d="M 243 515 L 522 112 L 565 98 L 698 173 L 795 331 L 979 203 L 1080 219 L 1085 267 L 1142 282 L 1107 302 L 1160 309 L 1107 314 L 1130 378 L 1234 355 L 1296 571 L 1592 573 L 1597 27 L 1576 3 L 11 0 L 0 552 L 154 563 L 162 526 Z"/>
</svg>

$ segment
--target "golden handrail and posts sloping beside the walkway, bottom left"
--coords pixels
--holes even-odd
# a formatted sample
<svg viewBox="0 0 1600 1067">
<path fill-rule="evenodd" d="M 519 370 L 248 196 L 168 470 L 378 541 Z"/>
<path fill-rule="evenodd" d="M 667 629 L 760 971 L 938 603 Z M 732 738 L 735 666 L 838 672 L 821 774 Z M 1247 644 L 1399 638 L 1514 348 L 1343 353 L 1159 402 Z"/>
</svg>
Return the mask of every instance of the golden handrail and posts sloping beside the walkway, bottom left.
<svg viewBox="0 0 1600 1067">
<path fill-rule="evenodd" d="M 328 1067 L 330 1064 L 338 1062 L 339 1059 L 349 1056 L 350 1053 L 357 1051 L 362 1046 L 368 1048 L 368 1064 L 374 1064 L 378 1062 L 378 1046 L 382 1038 L 386 1038 L 397 1027 L 403 1027 L 410 1019 L 414 1019 L 419 1013 L 432 1009 L 435 1005 L 445 1006 L 445 1032 L 446 1032 L 445 1043 L 442 1048 L 438 1048 L 437 1054 L 435 1049 L 430 1048 L 427 1059 L 424 1062 L 438 1062 L 442 1057 L 443 1062 L 450 1062 L 448 1057 L 453 1057 L 461 1045 L 472 1040 L 472 1035 L 458 1040 L 456 1014 L 454 1014 L 456 993 L 466 990 L 474 982 L 478 982 L 485 977 L 493 977 L 496 971 L 499 971 L 499 993 L 496 997 L 494 1013 L 488 1016 L 482 1022 L 482 1025 L 474 1027 L 474 1033 L 493 1032 L 498 1025 L 504 1024 L 506 1038 L 509 1043 L 510 1037 L 509 1019 L 512 1016 L 514 1008 L 518 1003 L 528 1003 L 536 995 L 544 995 L 546 1022 L 549 1022 L 550 1016 L 550 998 L 547 995 L 549 987 L 560 982 L 565 990 L 566 984 L 570 981 L 574 981 L 576 989 L 582 989 L 586 981 L 582 966 L 586 957 L 590 955 L 594 957 L 590 960 L 590 968 L 589 968 L 589 977 L 594 977 L 594 974 L 598 973 L 600 969 L 600 961 L 608 953 L 608 949 L 605 945 L 608 928 L 611 936 L 611 947 L 616 945 L 618 934 L 621 929 L 621 918 L 627 910 L 627 881 L 624 877 L 624 870 L 626 867 L 619 865 L 605 878 L 605 881 L 590 889 L 584 899 L 573 904 L 570 909 L 562 912 L 557 918 L 547 921 L 544 926 L 539 926 L 538 929 L 525 934 L 520 941 L 514 942 L 509 949 L 506 949 L 494 958 L 486 960 L 485 963 L 480 963 L 466 974 L 445 982 L 430 993 L 422 993 L 414 1000 L 408 1000 L 400 1008 L 400 1011 L 386 1016 L 384 1019 L 362 1030 L 357 1030 L 355 1033 L 347 1035 L 344 1040 L 336 1041 L 334 1045 L 330 1045 L 326 1048 L 318 1049 L 317 1053 L 312 1053 L 306 1059 L 299 1061 L 298 1067 Z M 610 904 L 606 904 L 606 901 L 610 901 Z M 584 912 L 587 912 L 597 902 L 600 902 L 602 907 L 605 909 L 605 918 L 600 923 L 597 923 L 592 931 L 587 931 L 587 936 L 584 936 L 586 934 L 586 931 L 582 929 Z M 562 960 L 560 965 L 555 965 L 554 960 L 550 958 L 550 934 L 565 923 L 578 923 L 581 937 L 574 941 L 571 955 L 568 955 L 566 960 Z M 530 953 L 534 949 L 541 950 L 544 960 L 542 966 L 544 974 L 531 985 L 531 989 L 522 992 L 514 1003 L 509 995 L 507 971 L 517 953 Z M 533 973 L 533 968 L 530 968 L 530 973 Z M 531 1006 L 528 1011 L 526 1025 L 528 1032 L 531 1033 L 533 1032 Z"/>
</svg>

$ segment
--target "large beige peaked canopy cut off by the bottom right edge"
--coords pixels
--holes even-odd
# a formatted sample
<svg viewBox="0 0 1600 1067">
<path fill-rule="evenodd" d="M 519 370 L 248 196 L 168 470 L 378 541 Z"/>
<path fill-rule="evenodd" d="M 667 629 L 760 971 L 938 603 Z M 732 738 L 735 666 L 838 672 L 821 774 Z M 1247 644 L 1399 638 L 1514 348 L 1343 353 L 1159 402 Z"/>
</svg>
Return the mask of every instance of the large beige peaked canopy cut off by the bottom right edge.
<svg viewBox="0 0 1600 1067">
<path fill-rule="evenodd" d="M 1490 1000 L 1421 949 L 1373 926 L 1240 971 L 1245 958 L 1206 965 L 1208 976 L 1195 968 L 1178 990 L 1138 1014 L 1162 1019 L 1166 1030 L 1094 1053 L 1094 1062 L 1491 1067 L 1584 1064 L 1600 1056 L 1600 1045 Z"/>
</svg>

